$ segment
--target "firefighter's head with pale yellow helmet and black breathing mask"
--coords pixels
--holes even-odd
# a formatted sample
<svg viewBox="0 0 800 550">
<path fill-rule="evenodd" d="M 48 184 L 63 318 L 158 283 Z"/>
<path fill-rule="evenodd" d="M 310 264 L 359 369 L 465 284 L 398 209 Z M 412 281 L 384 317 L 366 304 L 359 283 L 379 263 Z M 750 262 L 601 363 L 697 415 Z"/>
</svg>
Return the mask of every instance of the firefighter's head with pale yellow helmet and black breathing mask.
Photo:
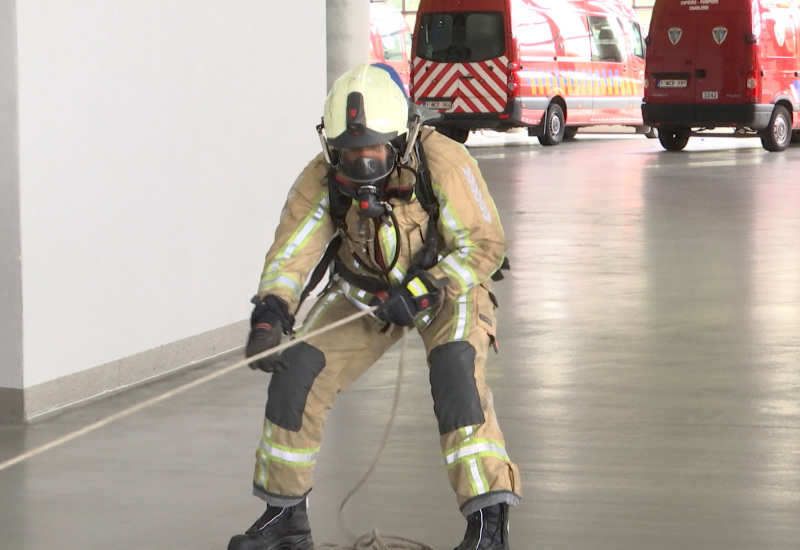
<svg viewBox="0 0 800 550">
<path fill-rule="evenodd" d="M 385 69 L 359 65 L 333 84 L 317 133 L 325 159 L 344 176 L 335 178 L 337 188 L 356 200 L 362 216 L 391 212 L 386 183 L 409 164 L 419 127 L 420 117 L 409 117 L 405 92 Z"/>
</svg>

